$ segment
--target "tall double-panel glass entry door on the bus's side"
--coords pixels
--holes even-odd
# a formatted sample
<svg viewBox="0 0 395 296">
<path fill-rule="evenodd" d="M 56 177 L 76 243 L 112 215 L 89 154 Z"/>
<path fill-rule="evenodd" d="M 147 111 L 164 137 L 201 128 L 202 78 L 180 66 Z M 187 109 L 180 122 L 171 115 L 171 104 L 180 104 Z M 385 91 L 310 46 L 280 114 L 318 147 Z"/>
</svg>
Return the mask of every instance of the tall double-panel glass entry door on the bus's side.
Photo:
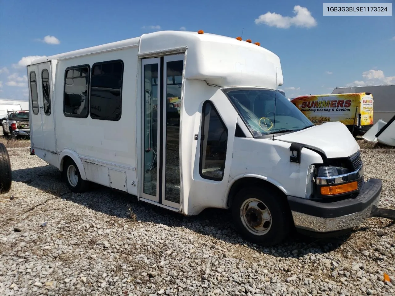
<svg viewBox="0 0 395 296">
<path fill-rule="evenodd" d="M 184 54 L 144 59 L 142 197 L 179 209 Z"/>
</svg>

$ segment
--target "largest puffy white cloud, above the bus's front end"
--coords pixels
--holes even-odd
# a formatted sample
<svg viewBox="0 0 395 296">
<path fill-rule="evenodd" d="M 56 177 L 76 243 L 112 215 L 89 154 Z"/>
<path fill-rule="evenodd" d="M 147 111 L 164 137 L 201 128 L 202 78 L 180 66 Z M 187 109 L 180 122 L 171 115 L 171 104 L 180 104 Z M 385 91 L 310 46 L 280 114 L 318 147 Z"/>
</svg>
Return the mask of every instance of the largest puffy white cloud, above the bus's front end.
<svg viewBox="0 0 395 296">
<path fill-rule="evenodd" d="M 256 24 L 266 24 L 271 27 L 277 27 L 282 29 L 288 29 L 291 26 L 301 28 L 312 28 L 317 25 L 316 20 L 312 17 L 310 11 L 306 7 L 296 5 L 293 7 L 294 17 L 283 17 L 278 13 L 267 12 L 260 15 L 258 19 L 255 19 Z"/>
</svg>

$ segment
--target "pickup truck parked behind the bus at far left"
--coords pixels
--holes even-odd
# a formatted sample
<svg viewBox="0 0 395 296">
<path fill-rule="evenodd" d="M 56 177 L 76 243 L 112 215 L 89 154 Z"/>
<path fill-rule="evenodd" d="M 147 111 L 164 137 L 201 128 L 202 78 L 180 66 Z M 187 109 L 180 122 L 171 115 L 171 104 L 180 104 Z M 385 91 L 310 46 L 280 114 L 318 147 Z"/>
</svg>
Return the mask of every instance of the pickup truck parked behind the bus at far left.
<svg viewBox="0 0 395 296">
<path fill-rule="evenodd" d="M 29 111 L 8 111 L 2 126 L 4 136 L 30 137 Z"/>
</svg>

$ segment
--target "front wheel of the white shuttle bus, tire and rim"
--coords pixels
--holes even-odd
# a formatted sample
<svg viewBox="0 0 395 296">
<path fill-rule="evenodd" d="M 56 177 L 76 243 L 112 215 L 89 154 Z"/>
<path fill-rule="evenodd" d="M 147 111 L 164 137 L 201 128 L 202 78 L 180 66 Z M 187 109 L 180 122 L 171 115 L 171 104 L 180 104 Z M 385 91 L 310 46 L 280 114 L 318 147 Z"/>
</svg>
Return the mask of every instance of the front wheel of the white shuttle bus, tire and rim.
<svg viewBox="0 0 395 296">
<path fill-rule="evenodd" d="M 245 187 L 236 193 L 231 213 L 237 232 L 263 246 L 282 242 L 291 228 L 291 213 L 283 196 L 265 187 Z"/>
</svg>

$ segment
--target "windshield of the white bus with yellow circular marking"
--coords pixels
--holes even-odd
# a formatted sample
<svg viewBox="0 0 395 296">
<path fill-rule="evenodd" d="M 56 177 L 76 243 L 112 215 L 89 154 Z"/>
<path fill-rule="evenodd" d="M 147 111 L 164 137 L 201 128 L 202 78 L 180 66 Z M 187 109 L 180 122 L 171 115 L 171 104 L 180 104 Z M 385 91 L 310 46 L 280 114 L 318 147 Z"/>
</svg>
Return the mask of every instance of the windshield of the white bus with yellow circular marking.
<svg viewBox="0 0 395 296">
<path fill-rule="evenodd" d="M 223 91 L 254 138 L 314 126 L 279 91 L 266 88 L 224 88 Z"/>
</svg>

